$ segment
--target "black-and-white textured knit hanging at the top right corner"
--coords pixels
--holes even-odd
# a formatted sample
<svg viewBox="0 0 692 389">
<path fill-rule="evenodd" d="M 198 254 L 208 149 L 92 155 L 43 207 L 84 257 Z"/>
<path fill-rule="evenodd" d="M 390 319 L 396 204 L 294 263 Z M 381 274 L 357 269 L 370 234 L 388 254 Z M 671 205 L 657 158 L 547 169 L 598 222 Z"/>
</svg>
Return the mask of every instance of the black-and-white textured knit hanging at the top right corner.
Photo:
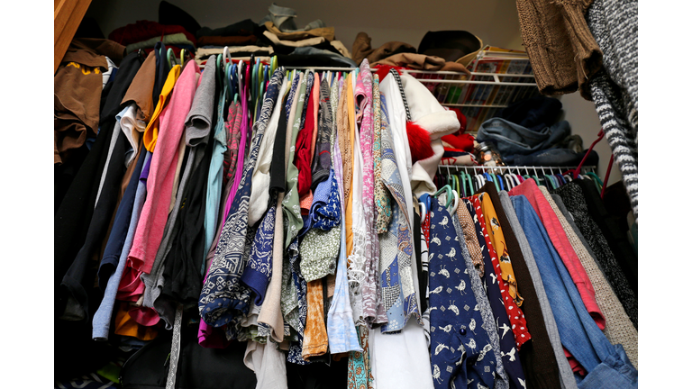
<svg viewBox="0 0 692 389">
<path fill-rule="evenodd" d="M 603 69 L 588 88 L 596 113 L 623 173 L 634 220 L 638 220 L 638 27 L 636 0 L 595 0 L 588 8 L 588 28 L 603 50 Z"/>
</svg>

